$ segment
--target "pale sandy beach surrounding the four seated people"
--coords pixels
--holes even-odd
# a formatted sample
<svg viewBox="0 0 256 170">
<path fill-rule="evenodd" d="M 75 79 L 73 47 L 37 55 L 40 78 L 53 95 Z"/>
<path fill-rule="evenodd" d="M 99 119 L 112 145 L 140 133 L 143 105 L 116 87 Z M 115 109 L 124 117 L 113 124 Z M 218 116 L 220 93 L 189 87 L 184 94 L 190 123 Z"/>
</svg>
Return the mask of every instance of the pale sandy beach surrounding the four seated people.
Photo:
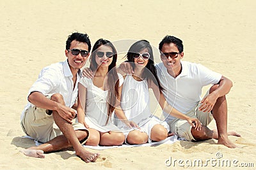
<svg viewBox="0 0 256 170">
<path fill-rule="evenodd" d="M 2 0 L 0 169 L 255 169 L 255 7 L 252 0 Z M 43 67 L 66 59 L 65 41 L 76 31 L 87 32 L 92 45 L 99 38 L 147 39 L 157 48 L 167 34 L 182 39 L 183 60 L 203 64 L 232 80 L 234 86 L 227 95 L 228 131 L 241 134 L 241 138 L 230 137 L 240 148 L 216 145 L 217 141 L 210 139 L 156 147 L 88 149 L 100 153 L 99 159 L 89 164 L 73 150 L 47 153 L 45 159 L 20 153 L 35 145 L 22 138 L 25 134 L 20 127 L 28 90 Z M 160 62 L 159 56 L 155 58 Z M 122 57 L 119 59 L 121 62 Z M 157 113 L 161 113 L 159 108 Z M 216 129 L 215 122 L 209 127 Z M 190 165 L 195 159 L 207 166 Z M 222 160 L 230 161 L 230 167 L 219 164 Z"/>
</svg>

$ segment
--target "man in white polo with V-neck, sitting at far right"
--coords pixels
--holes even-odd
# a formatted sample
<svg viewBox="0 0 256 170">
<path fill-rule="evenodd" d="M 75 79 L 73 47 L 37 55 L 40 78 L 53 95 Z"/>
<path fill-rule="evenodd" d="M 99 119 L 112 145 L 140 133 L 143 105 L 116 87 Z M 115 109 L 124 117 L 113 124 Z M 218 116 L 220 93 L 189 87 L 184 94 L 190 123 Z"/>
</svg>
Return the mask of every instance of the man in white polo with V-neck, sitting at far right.
<svg viewBox="0 0 256 170">
<path fill-rule="evenodd" d="M 160 64 L 157 64 L 157 76 L 163 86 L 163 94 L 168 104 L 189 117 L 202 122 L 200 131 L 195 130 L 186 120 L 174 118 L 163 113 L 170 124 L 171 132 L 188 141 L 218 139 L 218 144 L 236 148 L 228 135 L 240 136 L 236 132 L 227 132 L 227 101 L 225 95 L 232 87 L 232 81 L 219 73 L 207 69 L 201 64 L 181 61 L 184 57 L 183 44 L 179 38 L 165 36 L 159 43 Z M 212 87 L 203 99 L 202 88 Z M 207 125 L 216 120 L 218 131 L 211 131 Z"/>
</svg>

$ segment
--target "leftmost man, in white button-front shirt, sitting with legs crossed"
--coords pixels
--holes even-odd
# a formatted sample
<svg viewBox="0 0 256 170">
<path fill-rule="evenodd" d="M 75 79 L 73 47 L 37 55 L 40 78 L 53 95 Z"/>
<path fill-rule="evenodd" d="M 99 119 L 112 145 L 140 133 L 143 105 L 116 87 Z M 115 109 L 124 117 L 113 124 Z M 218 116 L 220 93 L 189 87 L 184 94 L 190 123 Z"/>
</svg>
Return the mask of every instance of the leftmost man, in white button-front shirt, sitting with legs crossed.
<svg viewBox="0 0 256 170">
<path fill-rule="evenodd" d="M 74 122 L 80 69 L 86 63 L 90 49 L 87 34 L 71 34 L 66 42 L 67 60 L 42 69 L 32 85 L 20 124 L 28 136 L 43 144 L 22 150 L 25 155 L 44 158 L 44 153 L 73 146 L 76 155 L 85 162 L 95 162 L 99 156 L 81 145 L 88 138 L 88 130 L 83 124 Z"/>
</svg>

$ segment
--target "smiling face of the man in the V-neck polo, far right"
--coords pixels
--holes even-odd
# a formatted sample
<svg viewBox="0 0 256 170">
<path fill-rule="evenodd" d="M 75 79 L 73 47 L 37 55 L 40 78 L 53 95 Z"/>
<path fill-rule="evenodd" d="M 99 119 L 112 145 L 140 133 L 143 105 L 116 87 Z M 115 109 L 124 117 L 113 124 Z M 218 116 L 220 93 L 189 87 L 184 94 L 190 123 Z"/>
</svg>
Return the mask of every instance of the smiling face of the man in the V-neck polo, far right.
<svg viewBox="0 0 256 170">
<path fill-rule="evenodd" d="M 179 50 L 177 46 L 173 43 L 167 44 L 164 43 L 161 52 L 163 53 L 170 53 L 170 52 L 177 52 L 179 53 Z M 172 59 L 172 57 L 168 57 L 167 59 L 162 59 L 162 62 L 166 69 L 169 71 L 172 71 L 175 73 L 175 76 L 178 76 L 181 73 L 181 64 L 180 64 L 180 59 L 182 59 L 184 56 L 184 53 L 181 52 L 178 54 L 178 57 L 175 59 Z"/>
</svg>

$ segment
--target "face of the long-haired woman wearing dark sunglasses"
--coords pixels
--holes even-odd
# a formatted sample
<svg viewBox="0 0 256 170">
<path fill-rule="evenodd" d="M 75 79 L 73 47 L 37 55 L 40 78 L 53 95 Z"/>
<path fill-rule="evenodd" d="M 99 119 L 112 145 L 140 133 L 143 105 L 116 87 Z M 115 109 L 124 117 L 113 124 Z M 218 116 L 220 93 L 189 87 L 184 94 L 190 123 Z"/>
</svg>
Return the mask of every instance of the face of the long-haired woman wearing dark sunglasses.
<svg viewBox="0 0 256 170">
<path fill-rule="evenodd" d="M 98 54 L 97 54 L 98 52 L 100 52 L 99 54 L 104 53 L 103 56 L 102 55 L 98 56 Z M 107 45 L 102 45 L 97 49 L 97 51 L 95 53 L 96 53 L 95 54 L 95 61 L 98 65 L 98 67 L 107 67 L 108 68 L 108 66 L 113 61 L 113 55 L 112 55 L 112 57 L 109 56 L 109 53 L 113 53 L 112 48 L 110 46 L 107 46 Z"/>
</svg>

